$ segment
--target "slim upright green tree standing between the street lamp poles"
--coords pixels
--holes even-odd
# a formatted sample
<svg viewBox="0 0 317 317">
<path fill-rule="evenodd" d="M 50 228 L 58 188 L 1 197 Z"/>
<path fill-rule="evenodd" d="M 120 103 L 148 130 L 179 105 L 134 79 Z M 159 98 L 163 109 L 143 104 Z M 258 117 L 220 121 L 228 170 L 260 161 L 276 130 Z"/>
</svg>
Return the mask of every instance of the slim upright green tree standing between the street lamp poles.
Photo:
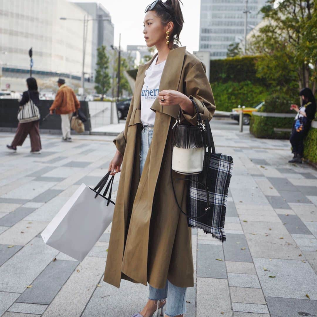
<svg viewBox="0 0 317 317">
<path fill-rule="evenodd" d="M 104 45 L 97 49 L 97 68 L 95 76 L 95 89 L 98 94 L 101 94 L 101 101 L 103 95 L 107 93 L 110 88 L 110 75 L 108 73 L 109 57 L 106 54 L 106 47 Z"/>
</svg>

